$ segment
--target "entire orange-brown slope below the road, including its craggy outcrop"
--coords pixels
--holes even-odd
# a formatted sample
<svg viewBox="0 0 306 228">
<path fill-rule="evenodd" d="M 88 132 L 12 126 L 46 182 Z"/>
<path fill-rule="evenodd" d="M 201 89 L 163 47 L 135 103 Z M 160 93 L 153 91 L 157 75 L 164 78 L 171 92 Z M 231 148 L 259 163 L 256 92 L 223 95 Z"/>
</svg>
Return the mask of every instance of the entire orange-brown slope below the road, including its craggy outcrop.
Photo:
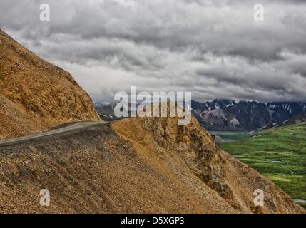
<svg viewBox="0 0 306 228">
<path fill-rule="evenodd" d="M 16 152 L 18 151 L 18 152 Z M 128 118 L 0 147 L 0 212 L 303 213 L 198 122 Z M 255 207 L 253 191 L 265 192 Z M 41 189 L 49 207 L 39 205 Z"/>
</svg>

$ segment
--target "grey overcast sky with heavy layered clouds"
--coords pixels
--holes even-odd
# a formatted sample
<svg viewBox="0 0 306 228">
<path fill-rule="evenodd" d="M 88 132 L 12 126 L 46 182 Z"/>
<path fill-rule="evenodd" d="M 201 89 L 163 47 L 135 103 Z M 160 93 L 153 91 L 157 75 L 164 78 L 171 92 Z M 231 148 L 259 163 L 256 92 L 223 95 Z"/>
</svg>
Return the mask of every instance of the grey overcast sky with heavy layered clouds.
<svg viewBox="0 0 306 228">
<path fill-rule="evenodd" d="M 39 19 L 42 3 L 51 21 Z M 199 101 L 306 100 L 303 1 L 0 0 L 0 28 L 95 101 L 130 86 Z"/>
</svg>

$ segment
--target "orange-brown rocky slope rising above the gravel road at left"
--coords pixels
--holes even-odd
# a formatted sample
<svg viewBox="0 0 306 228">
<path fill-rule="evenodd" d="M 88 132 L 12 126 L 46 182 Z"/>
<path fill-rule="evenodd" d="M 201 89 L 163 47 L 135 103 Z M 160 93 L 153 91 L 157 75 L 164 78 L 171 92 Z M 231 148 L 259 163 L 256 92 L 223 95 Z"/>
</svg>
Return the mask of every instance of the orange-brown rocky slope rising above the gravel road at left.
<svg viewBox="0 0 306 228">
<path fill-rule="evenodd" d="M 0 30 L 0 139 L 71 121 L 99 120 L 72 76 Z"/>
</svg>

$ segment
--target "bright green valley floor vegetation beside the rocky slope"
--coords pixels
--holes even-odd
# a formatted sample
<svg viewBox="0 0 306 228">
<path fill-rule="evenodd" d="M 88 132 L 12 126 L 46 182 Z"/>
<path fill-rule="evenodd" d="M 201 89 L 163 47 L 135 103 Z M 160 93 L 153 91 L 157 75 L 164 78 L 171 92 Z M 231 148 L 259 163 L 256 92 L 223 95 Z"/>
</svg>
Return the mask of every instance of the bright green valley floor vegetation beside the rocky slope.
<svg viewBox="0 0 306 228">
<path fill-rule="evenodd" d="M 263 130 L 220 147 L 268 177 L 295 199 L 306 199 L 306 123 Z"/>
</svg>

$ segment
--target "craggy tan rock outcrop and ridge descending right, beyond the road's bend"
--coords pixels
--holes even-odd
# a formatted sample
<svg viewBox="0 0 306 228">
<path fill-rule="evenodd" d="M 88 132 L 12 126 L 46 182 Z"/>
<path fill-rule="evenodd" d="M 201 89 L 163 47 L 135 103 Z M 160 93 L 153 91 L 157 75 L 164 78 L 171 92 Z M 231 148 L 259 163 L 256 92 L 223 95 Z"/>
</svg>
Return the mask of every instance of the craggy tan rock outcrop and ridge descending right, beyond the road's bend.
<svg viewBox="0 0 306 228">
<path fill-rule="evenodd" d="M 180 172 L 177 161 L 183 160 L 184 167 L 218 192 L 236 212 L 303 212 L 270 180 L 220 150 L 195 118 L 189 125 L 178 125 L 177 121 L 177 118 L 133 118 L 114 122 L 112 126 L 149 162 L 156 162 L 155 157 L 158 157 L 175 172 Z M 254 206 L 253 192 L 257 189 L 265 194 L 264 207 Z"/>
</svg>

